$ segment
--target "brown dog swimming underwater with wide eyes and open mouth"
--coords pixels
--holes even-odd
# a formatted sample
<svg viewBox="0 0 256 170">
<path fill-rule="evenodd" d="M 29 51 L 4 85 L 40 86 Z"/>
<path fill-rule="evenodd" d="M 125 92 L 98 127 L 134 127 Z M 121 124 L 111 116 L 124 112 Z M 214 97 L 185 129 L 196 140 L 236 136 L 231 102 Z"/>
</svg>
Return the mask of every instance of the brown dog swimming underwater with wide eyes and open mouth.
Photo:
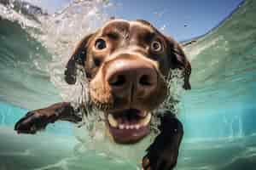
<svg viewBox="0 0 256 170">
<path fill-rule="evenodd" d="M 150 132 L 152 116 L 160 117 L 160 133 L 143 157 L 143 169 L 170 170 L 177 162 L 183 126 L 170 110 L 158 115 L 168 96 L 167 77 L 183 71 L 183 88 L 190 89 L 191 67 L 181 46 L 144 20 L 110 20 L 84 37 L 67 63 L 65 80 L 77 81 L 84 69 L 89 84 L 90 107 L 104 112 L 106 128 L 119 144 L 134 144 Z M 30 111 L 15 125 L 18 133 L 36 133 L 49 122 L 82 121 L 70 103 Z M 86 123 L 86 122 L 85 122 Z"/>
</svg>

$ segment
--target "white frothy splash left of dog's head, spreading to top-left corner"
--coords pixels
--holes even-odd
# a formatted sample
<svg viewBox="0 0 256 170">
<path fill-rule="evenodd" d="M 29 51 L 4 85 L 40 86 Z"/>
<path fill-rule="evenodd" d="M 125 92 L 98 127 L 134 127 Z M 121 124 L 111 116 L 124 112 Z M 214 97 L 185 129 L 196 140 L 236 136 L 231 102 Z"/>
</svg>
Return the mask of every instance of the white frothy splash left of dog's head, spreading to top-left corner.
<svg viewBox="0 0 256 170">
<path fill-rule="evenodd" d="M 3 5 L 2 5 L 2 4 Z M 18 22 L 52 55 L 45 67 L 38 67 L 50 75 L 50 81 L 59 89 L 63 100 L 73 99 L 79 92 L 78 84 L 70 86 L 64 81 L 64 70 L 67 60 L 71 57 L 76 44 L 90 32 L 102 26 L 109 17 L 105 13 L 111 8 L 111 3 L 105 0 L 74 0 L 55 14 L 35 7 L 23 1 L 0 1 L 0 17 Z M 38 55 L 40 52 L 38 51 Z M 34 59 L 38 65 L 41 60 Z"/>
</svg>

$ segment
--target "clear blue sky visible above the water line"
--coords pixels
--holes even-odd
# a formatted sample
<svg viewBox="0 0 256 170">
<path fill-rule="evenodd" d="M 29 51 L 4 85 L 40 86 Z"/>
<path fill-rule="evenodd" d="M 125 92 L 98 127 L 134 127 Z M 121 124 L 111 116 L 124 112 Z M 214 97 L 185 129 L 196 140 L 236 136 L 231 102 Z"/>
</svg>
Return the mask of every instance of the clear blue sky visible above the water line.
<svg viewBox="0 0 256 170">
<path fill-rule="evenodd" d="M 50 13 L 72 0 L 27 0 L 40 2 Z M 151 22 L 177 41 L 189 40 L 210 31 L 243 0 L 109 0 L 108 14 L 125 20 Z"/>
</svg>

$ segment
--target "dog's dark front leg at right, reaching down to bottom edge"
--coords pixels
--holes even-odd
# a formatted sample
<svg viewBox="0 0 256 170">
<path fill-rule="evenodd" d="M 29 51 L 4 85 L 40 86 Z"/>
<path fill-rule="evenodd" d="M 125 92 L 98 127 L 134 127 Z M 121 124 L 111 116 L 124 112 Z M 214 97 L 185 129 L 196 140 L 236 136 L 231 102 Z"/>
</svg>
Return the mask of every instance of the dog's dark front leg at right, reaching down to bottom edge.
<svg viewBox="0 0 256 170">
<path fill-rule="evenodd" d="M 160 134 L 143 157 L 144 170 L 172 170 L 177 164 L 178 149 L 183 138 L 183 125 L 172 113 L 161 117 Z"/>
</svg>

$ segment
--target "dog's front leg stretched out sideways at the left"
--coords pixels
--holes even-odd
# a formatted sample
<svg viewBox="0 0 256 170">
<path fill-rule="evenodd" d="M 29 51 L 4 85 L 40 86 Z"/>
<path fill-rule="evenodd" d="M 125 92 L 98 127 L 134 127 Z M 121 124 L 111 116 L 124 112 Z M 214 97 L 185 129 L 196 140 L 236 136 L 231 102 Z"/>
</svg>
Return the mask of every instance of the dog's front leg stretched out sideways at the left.
<svg viewBox="0 0 256 170">
<path fill-rule="evenodd" d="M 77 112 L 68 102 L 29 111 L 19 122 L 16 122 L 15 130 L 17 133 L 36 133 L 38 130 L 44 129 L 49 123 L 58 120 L 77 123 L 82 121 L 82 118 L 76 114 Z"/>
</svg>

